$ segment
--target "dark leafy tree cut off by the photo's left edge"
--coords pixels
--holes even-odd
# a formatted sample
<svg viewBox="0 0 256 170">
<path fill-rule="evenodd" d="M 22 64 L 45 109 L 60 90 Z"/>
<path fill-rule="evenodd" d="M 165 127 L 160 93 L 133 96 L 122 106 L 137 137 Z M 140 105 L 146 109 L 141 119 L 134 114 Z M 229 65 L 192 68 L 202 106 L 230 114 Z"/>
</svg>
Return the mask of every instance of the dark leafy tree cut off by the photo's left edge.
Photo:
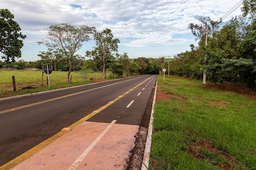
<svg viewBox="0 0 256 170">
<path fill-rule="evenodd" d="M 0 52 L 5 62 L 15 62 L 21 57 L 22 40 L 26 35 L 20 33 L 19 24 L 13 20 L 14 15 L 8 9 L 0 9 Z"/>
</svg>

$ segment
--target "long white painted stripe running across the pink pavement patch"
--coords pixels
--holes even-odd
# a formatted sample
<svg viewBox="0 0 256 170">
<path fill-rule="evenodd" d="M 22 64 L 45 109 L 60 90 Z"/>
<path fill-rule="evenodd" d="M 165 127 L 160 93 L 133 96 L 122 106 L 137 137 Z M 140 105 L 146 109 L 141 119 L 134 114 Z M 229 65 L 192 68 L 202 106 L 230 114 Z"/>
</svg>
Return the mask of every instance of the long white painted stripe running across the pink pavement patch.
<svg viewBox="0 0 256 170">
<path fill-rule="evenodd" d="M 92 142 L 92 144 L 80 155 L 79 158 L 74 161 L 74 163 L 68 168 L 67 170 L 75 170 L 77 166 L 79 166 L 79 163 L 83 161 L 83 159 L 88 155 L 88 153 L 92 150 L 92 148 L 98 143 L 98 141 L 105 135 L 106 132 L 115 124 L 117 120 L 113 120 L 111 124 L 108 125 L 108 127 L 101 132 L 101 134 Z"/>
</svg>

